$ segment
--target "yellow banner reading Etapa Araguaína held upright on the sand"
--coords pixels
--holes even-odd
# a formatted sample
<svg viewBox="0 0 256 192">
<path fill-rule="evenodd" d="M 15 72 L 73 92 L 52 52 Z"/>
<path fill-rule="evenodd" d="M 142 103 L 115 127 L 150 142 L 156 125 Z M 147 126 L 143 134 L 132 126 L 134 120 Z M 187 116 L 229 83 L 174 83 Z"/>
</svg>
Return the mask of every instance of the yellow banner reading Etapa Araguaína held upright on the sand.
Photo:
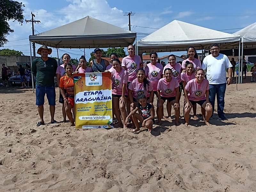
<svg viewBox="0 0 256 192">
<path fill-rule="evenodd" d="M 110 73 L 74 74 L 76 127 L 112 128 Z"/>
</svg>

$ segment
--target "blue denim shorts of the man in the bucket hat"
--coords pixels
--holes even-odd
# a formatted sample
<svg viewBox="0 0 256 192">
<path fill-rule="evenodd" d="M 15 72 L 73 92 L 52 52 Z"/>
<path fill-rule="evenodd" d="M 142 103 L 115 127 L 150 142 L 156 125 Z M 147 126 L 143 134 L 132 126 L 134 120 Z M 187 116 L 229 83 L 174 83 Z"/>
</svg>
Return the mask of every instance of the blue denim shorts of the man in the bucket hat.
<svg viewBox="0 0 256 192">
<path fill-rule="evenodd" d="M 48 99 L 49 105 L 55 106 L 55 87 L 54 85 L 49 87 L 43 87 L 40 85 L 36 85 L 36 105 L 43 105 L 44 104 L 44 96 L 46 94 L 46 97 Z"/>
</svg>

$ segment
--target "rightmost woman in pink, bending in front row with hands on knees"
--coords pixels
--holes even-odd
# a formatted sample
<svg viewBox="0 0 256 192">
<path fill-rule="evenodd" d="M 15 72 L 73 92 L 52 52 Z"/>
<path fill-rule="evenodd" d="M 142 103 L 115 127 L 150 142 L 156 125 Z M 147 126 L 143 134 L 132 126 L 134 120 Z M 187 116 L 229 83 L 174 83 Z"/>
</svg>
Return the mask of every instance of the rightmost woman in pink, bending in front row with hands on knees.
<svg viewBox="0 0 256 192">
<path fill-rule="evenodd" d="M 205 73 L 203 69 L 197 69 L 195 74 L 196 78 L 188 81 L 184 89 L 184 95 L 187 101 L 184 107 L 185 125 L 188 126 L 189 113 L 194 104 L 199 104 L 204 108 L 206 111 L 203 114 L 205 125 L 211 125 L 209 119 L 212 115 L 212 105 L 209 102 L 209 82 L 207 79 L 204 79 Z"/>
</svg>

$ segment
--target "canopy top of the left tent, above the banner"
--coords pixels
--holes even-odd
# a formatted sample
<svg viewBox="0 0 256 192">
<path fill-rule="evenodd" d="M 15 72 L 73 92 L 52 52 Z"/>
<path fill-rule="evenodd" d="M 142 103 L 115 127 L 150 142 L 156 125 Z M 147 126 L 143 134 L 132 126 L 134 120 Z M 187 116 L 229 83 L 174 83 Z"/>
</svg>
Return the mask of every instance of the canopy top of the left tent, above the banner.
<svg viewBox="0 0 256 192">
<path fill-rule="evenodd" d="M 135 39 L 136 32 L 90 16 L 29 36 L 30 42 L 58 48 L 127 47 Z"/>
</svg>

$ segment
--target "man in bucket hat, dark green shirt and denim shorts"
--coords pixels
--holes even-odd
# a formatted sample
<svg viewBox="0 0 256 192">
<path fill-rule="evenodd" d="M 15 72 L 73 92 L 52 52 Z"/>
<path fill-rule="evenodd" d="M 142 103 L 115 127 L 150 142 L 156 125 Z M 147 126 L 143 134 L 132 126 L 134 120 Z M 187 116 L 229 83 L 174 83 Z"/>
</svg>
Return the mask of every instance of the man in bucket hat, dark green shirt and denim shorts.
<svg viewBox="0 0 256 192">
<path fill-rule="evenodd" d="M 51 123 L 57 123 L 54 120 L 55 113 L 55 87 L 54 76 L 56 76 L 57 61 L 48 57 L 52 53 L 52 49 L 48 49 L 46 45 L 41 46 L 37 50 L 37 54 L 41 55 L 32 61 L 31 72 L 36 77 L 36 105 L 40 117 L 37 127 L 45 125 L 44 123 L 44 96 L 46 94 L 50 105 Z"/>
</svg>

